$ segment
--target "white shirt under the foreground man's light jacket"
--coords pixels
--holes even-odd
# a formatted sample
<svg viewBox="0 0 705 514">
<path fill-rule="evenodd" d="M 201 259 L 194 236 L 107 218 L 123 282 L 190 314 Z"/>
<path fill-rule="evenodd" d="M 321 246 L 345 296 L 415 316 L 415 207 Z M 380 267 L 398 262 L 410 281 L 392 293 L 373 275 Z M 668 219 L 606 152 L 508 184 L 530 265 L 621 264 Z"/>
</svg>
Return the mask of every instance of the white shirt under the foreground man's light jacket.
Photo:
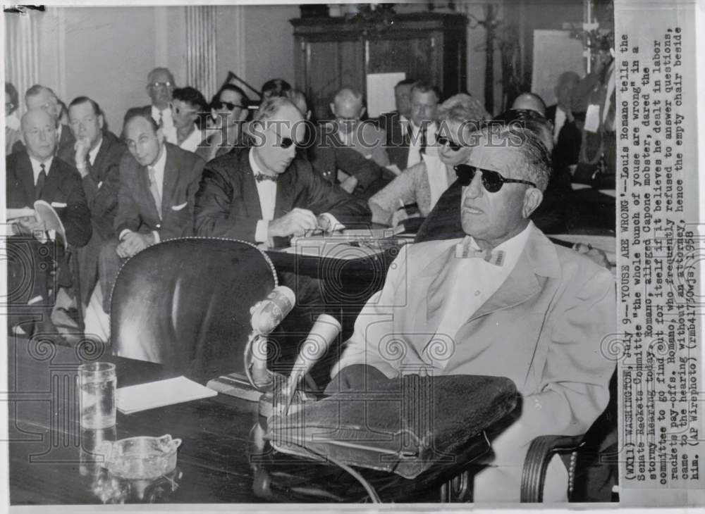
<svg viewBox="0 0 705 514">
<path fill-rule="evenodd" d="M 436 334 L 455 338 L 458 329 L 497 292 L 519 261 L 532 225 L 533 222 L 529 221 L 529 225 L 522 232 L 492 249 L 504 251 L 504 262 L 501 266 L 488 263 L 482 258 L 450 259 L 452 268 L 446 283 L 452 284 L 453 287 L 443 299 L 443 315 Z M 458 244 L 470 244 L 472 248 L 479 249 L 471 236 L 458 239 Z M 434 366 L 440 368 L 444 368 L 446 363 L 448 361 L 433 362 Z"/>
</svg>

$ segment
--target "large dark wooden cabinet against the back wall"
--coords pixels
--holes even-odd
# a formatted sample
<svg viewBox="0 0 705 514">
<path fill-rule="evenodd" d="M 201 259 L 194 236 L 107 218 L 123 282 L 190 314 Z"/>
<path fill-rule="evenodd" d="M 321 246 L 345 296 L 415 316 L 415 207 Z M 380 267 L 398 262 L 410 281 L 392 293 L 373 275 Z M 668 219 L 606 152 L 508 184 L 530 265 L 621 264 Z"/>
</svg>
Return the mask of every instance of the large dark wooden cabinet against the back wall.
<svg viewBox="0 0 705 514">
<path fill-rule="evenodd" d="M 404 72 L 427 80 L 444 97 L 465 91 L 467 18 L 455 13 L 409 13 L 380 20 L 298 18 L 294 26 L 296 87 L 319 120 L 341 87 L 365 96 L 368 73 Z"/>
</svg>

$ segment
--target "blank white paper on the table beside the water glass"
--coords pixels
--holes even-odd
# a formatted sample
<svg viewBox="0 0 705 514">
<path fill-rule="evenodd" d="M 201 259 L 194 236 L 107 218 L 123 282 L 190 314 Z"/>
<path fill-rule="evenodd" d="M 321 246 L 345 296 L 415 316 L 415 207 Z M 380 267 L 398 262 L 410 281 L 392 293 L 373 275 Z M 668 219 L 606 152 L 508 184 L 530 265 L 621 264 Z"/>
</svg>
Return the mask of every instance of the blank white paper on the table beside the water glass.
<svg viewBox="0 0 705 514">
<path fill-rule="evenodd" d="M 116 391 L 115 403 L 121 413 L 132 414 L 140 410 L 209 398 L 216 394 L 216 391 L 181 376 L 121 387 Z"/>
</svg>

